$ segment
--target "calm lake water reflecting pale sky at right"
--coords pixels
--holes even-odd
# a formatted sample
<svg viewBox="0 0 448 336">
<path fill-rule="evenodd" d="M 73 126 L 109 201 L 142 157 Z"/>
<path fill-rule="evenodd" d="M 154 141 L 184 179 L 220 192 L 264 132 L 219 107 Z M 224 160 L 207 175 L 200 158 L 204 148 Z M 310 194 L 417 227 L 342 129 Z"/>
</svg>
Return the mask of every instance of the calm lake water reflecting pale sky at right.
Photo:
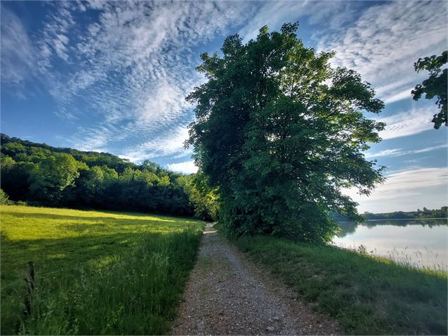
<svg viewBox="0 0 448 336">
<path fill-rule="evenodd" d="M 401 263 L 448 270 L 447 220 L 341 222 L 337 246 L 358 248 Z"/>
</svg>

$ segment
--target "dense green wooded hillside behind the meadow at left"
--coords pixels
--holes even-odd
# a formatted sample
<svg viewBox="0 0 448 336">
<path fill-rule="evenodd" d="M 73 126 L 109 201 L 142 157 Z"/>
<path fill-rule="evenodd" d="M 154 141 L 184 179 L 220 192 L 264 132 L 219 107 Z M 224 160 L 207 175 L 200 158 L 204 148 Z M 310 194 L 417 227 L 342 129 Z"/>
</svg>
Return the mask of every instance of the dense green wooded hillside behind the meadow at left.
<svg viewBox="0 0 448 336">
<path fill-rule="evenodd" d="M 212 220 L 213 191 L 201 174 L 183 175 L 146 160 L 32 143 L 1 134 L 2 200 L 31 205 L 156 212 Z M 6 193 L 6 194 L 5 194 Z"/>
</svg>

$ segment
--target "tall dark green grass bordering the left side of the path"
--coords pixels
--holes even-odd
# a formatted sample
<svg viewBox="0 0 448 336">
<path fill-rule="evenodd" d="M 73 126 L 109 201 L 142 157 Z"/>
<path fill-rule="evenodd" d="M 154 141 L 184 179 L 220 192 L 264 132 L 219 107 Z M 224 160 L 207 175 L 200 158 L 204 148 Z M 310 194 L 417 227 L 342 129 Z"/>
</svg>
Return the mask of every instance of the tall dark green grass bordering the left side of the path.
<svg viewBox="0 0 448 336">
<path fill-rule="evenodd" d="M 193 267 L 198 230 L 143 234 L 116 262 L 58 282 L 42 279 L 20 333 L 31 335 L 160 335 Z"/>
</svg>

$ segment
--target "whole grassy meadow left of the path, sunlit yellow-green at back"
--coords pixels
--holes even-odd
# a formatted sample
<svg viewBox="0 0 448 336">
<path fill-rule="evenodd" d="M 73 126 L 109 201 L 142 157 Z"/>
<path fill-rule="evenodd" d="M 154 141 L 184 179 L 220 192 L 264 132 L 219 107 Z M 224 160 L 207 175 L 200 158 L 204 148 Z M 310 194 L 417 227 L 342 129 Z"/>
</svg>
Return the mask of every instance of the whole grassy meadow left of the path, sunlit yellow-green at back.
<svg viewBox="0 0 448 336">
<path fill-rule="evenodd" d="M 139 213 L 1 206 L 1 334 L 169 330 L 204 225 Z M 32 315 L 25 265 L 35 263 Z"/>
</svg>

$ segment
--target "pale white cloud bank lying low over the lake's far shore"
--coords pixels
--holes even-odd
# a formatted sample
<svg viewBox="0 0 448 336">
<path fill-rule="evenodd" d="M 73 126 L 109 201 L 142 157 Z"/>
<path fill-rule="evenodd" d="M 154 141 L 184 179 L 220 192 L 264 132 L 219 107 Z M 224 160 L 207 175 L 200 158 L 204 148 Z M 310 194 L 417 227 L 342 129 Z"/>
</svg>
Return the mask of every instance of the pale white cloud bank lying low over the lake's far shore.
<svg viewBox="0 0 448 336">
<path fill-rule="evenodd" d="M 356 190 L 344 191 L 356 200 L 361 212 L 411 211 L 417 208 L 440 208 L 447 205 L 448 168 L 418 168 L 391 172 L 384 184 L 370 196 Z"/>
</svg>

